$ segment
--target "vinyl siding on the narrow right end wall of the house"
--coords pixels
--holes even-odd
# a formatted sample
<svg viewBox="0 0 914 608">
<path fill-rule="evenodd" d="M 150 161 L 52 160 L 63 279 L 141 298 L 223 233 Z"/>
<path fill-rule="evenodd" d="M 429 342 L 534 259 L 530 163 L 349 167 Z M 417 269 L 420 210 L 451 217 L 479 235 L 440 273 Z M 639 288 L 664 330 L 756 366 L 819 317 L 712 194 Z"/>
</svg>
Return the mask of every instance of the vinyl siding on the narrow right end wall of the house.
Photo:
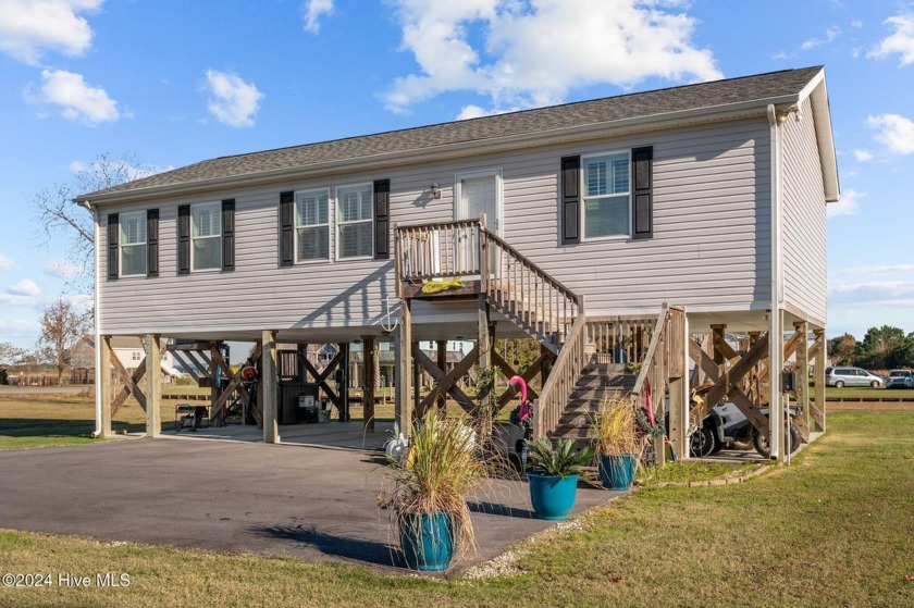
<svg viewBox="0 0 914 608">
<path fill-rule="evenodd" d="M 808 100 L 802 113 L 805 120 L 798 123 L 791 115 L 783 125 L 783 299 L 824 323 L 828 289 L 826 203 Z"/>
</svg>

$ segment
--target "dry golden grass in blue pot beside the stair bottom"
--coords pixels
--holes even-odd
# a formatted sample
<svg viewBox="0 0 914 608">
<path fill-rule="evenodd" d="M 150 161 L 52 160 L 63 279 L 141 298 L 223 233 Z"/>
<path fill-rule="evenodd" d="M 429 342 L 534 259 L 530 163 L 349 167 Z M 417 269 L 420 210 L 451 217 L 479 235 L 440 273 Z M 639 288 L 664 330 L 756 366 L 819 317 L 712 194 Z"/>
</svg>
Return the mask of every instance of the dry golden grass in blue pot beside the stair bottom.
<svg viewBox="0 0 914 608">
<path fill-rule="evenodd" d="M 638 455 L 641 454 L 634 409 L 625 398 L 604 401 L 593 423 L 600 480 L 609 489 L 628 489 L 634 481 Z"/>
</svg>

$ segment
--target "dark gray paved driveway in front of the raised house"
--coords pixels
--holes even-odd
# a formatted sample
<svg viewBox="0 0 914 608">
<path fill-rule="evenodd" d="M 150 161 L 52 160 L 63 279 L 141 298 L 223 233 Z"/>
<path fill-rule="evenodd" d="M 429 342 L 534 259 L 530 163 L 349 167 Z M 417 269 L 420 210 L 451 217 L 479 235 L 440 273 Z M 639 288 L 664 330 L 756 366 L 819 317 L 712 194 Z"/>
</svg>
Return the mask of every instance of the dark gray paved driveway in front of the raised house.
<svg viewBox="0 0 914 608">
<path fill-rule="evenodd" d="M 148 438 L 0 451 L 0 528 L 400 569 L 378 508 L 382 462 L 369 450 Z M 582 486 L 576 512 L 616 495 Z M 498 481 L 472 501 L 479 551 L 459 568 L 552 526 L 529 500 L 524 483 Z"/>
</svg>

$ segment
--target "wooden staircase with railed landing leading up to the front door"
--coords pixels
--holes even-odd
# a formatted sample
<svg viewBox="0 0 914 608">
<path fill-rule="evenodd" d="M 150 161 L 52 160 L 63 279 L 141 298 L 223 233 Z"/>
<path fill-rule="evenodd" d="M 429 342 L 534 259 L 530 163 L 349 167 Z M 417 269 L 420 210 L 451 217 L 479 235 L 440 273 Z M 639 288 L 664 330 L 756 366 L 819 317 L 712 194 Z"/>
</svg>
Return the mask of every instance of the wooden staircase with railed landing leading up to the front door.
<svg viewBox="0 0 914 608">
<path fill-rule="evenodd" d="M 590 438 L 592 417 L 607 396 L 631 394 L 643 401 L 645 383 L 659 387 L 663 395 L 666 381 L 660 376 L 669 359 L 666 320 L 680 315 L 684 320 L 681 309 L 665 307 L 652 317 L 589 319 L 582 295 L 486 229 L 484 216 L 397 226 L 395 246 L 398 296 L 485 295 L 491 308 L 557 355 L 534 401 L 534 436 L 583 442 Z M 464 280 L 459 289 L 421 293 L 420 285 L 457 276 Z M 657 348 L 660 343 L 665 346 Z M 643 363 L 641 373 L 628 373 L 628 361 Z"/>
</svg>

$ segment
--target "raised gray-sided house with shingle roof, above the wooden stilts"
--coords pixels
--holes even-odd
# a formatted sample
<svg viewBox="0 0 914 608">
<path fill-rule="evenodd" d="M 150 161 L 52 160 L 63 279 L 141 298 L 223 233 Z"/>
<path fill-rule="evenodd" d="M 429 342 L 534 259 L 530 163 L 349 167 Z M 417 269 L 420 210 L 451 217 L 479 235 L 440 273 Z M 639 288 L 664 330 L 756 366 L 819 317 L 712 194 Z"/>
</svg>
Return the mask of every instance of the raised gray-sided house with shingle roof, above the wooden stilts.
<svg viewBox="0 0 914 608">
<path fill-rule="evenodd" d="M 668 303 L 691 333 L 771 335 L 780 369 L 785 331 L 825 330 L 838 194 L 817 66 L 223 157 L 76 201 L 100 336 L 344 343 L 399 320 L 400 339 L 465 339 L 484 307 L 496 337 L 561 358 L 576 319 Z M 421 297 L 481 276 L 483 240 L 491 281 Z M 551 321 L 540 289 L 565 298 Z"/>
</svg>

